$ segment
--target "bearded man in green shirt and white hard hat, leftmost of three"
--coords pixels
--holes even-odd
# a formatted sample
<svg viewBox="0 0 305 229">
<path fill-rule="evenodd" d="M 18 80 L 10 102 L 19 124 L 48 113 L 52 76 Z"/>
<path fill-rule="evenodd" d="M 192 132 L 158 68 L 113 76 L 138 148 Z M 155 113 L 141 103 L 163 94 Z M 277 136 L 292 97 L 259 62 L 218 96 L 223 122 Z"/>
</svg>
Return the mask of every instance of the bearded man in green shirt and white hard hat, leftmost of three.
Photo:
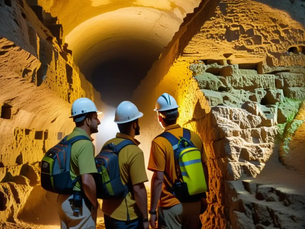
<svg viewBox="0 0 305 229">
<path fill-rule="evenodd" d="M 89 140 L 79 140 L 71 147 L 70 176 L 72 180 L 80 176 L 74 186 L 74 195 L 59 195 L 57 198 L 57 209 L 60 218 L 61 229 L 83 229 L 96 228 L 97 208 L 99 206 L 96 198 L 96 185 L 92 176 L 97 173 L 94 160 L 94 145 L 91 134 L 98 132 L 99 112 L 88 98 L 80 98 L 74 101 L 71 108 L 71 117 L 76 127 L 67 137 L 84 135 Z M 81 192 L 82 190 L 82 192 Z M 79 214 L 73 203 L 75 196 L 81 196 L 82 207 Z"/>
</svg>

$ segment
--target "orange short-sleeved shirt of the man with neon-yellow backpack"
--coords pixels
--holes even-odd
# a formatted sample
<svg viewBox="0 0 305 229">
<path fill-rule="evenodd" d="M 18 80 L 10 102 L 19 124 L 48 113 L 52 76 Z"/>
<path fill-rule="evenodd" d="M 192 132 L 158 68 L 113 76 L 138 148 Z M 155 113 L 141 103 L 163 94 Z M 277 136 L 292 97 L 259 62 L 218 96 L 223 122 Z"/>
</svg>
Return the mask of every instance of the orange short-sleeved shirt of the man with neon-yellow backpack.
<svg viewBox="0 0 305 229">
<path fill-rule="evenodd" d="M 178 138 L 183 134 L 183 128 L 181 128 L 181 126 L 178 124 L 170 125 L 166 127 L 164 131 L 168 131 Z M 191 131 L 190 140 L 195 145 L 195 147 L 202 152 L 202 162 L 206 162 L 206 153 L 204 152 L 203 143 L 199 135 Z M 170 207 L 179 204 L 179 200 L 166 190 L 166 187 L 171 187 L 171 183 L 168 181 L 167 177 L 170 177 L 170 180 L 174 182 L 177 179 L 177 175 L 175 171 L 174 150 L 170 142 L 165 138 L 157 137 L 152 141 L 147 169 L 151 171 L 164 172 L 164 180 L 162 184 L 159 206 Z"/>
</svg>

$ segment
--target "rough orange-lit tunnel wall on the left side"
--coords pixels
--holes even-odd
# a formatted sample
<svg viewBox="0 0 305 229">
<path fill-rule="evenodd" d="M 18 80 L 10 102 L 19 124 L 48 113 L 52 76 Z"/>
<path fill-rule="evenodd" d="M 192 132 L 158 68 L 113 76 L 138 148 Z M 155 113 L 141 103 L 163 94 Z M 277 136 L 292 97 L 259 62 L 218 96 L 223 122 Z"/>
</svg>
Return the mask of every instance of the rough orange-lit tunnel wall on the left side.
<svg viewBox="0 0 305 229">
<path fill-rule="evenodd" d="M 87 96 L 103 104 L 25 2 L 0 0 L 0 15 L 0 221 L 17 222 L 46 196 L 40 161 L 74 128 L 71 103 Z"/>
</svg>

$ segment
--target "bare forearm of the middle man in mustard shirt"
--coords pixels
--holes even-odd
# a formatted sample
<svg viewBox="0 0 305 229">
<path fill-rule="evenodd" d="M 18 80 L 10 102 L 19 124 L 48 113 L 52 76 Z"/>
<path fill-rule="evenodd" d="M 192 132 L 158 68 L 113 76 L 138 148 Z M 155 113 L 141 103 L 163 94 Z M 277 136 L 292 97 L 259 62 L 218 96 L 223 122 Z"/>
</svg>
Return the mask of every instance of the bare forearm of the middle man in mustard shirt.
<svg viewBox="0 0 305 229">
<path fill-rule="evenodd" d="M 143 219 L 148 219 L 147 212 L 147 192 L 144 182 L 132 186 L 135 193 L 135 202 L 142 214 Z"/>
</svg>

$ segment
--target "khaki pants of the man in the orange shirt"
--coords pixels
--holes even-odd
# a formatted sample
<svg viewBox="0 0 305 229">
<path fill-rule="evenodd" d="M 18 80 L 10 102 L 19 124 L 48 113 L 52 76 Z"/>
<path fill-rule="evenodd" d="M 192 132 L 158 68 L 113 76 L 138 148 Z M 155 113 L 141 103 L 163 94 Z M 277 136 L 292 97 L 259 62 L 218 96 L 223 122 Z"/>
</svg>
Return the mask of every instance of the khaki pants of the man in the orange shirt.
<svg viewBox="0 0 305 229">
<path fill-rule="evenodd" d="M 158 208 L 159 229 L 199 228 L 201 202 Z"/>
</svg>

